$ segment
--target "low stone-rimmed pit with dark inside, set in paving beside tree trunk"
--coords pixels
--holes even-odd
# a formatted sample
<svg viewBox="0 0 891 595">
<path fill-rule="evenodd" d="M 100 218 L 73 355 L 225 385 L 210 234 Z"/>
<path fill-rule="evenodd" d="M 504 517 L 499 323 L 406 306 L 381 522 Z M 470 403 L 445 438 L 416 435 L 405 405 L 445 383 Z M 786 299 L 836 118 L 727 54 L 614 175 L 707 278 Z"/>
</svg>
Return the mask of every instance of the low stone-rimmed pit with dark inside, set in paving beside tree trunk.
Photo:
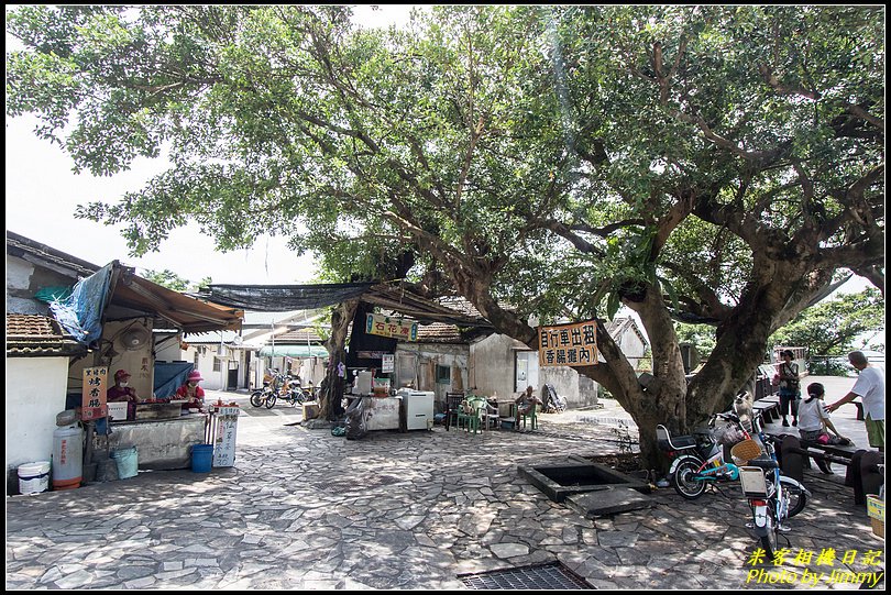
<svg viewBox="0 0 891 595">
<path fill-rule="evenodd" d="M 520 475 L 553 502 L 585 492 L 628 487 L 650 493 L 647 482 L 597 463 L 562 463 L 554 465 L 519 465 Z"/>
</svg>

